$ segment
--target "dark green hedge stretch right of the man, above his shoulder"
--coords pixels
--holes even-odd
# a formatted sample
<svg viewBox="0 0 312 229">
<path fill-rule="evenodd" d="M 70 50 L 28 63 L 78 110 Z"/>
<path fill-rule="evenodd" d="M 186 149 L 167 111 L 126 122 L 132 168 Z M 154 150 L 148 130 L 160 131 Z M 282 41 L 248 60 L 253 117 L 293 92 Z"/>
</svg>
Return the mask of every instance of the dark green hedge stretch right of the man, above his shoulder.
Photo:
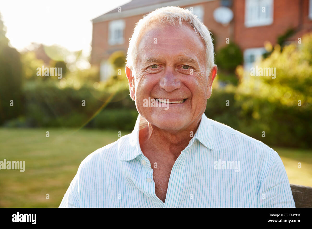
<svg viewBox="0 0 312 229">
<path fill-rule="evenodd" d="M 230 106 L 226 106 L 229 100 Z M 312 147 L 312 111 L 278 101 L 213 90 L 205 114 L 269 146 Z M 265 137 L 262 137 L 265 131 Z"/>
</svg>

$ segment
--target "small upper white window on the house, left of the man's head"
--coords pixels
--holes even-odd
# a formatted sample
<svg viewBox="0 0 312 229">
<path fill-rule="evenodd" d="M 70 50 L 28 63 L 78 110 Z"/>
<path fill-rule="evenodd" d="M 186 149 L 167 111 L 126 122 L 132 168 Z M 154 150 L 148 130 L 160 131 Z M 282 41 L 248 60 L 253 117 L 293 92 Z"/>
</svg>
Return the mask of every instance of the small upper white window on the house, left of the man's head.
<svg viewBox="0 0 312 229">
<path fill-rule="evenodd" d="M 125 28 L 124 20 L 120 19 L 110 21 L 108 25 L 108 43 L 110 45 L 121 45 L 124 43 L 124 28 Z"/>
</svg>

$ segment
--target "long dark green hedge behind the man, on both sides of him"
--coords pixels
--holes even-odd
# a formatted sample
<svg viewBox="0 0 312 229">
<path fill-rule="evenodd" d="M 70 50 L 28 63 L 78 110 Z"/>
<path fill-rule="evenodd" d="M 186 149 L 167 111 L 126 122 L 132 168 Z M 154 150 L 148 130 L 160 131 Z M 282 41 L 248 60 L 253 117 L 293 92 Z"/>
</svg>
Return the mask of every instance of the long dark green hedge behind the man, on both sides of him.
<svg viewBox="0 0 312 229">
<path fill-rule="evenodd" d="M 25 87 L 24 116 L 4 123 L 7 127 L 87 127 L 131 131 L 138 116 L 127 88 L 111 93 L 91 86 L 58 88 L 51 84 Z M 86 106 L 82 106 L 85 100 Z M 227 100 L 229 106 L 226 106 Z M 105 105 L 106 104 L 106 105 Z M 268 145 L 311 147 L 310 110 L 287 107 L 264 98 L 232 91 L 213 90 L 207 100 L 208 118 Z M 262 137 L 262 131 L 266 136 Z"/>
</svg>

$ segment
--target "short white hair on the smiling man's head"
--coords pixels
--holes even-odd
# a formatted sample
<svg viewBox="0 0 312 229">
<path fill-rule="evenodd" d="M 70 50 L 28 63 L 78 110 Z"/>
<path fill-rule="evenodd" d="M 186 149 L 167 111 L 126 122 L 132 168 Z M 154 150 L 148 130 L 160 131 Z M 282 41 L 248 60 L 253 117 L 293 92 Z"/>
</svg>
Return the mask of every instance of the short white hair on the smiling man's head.
<svg viewBox="0 0 312 229">
<path fill-rule="evenodd" d="M 214 65 L 214 49 L 212 44 L 211 32 L 202 23 L 197 16 L 193 15 L 187 9 L 168 6 L 162 7 L 150 12 L 145 17 L 136 23 L 132 37 L 130 38 L 128 53 L 127 53 L 127 63 L 126 66 L 129 67 L 131 71 L 134 71 L 134 65 L 137 59 L 137 48 L 142 31 L 145 31 L 151 22 L 158 22 L 162 25 L 171 25 L 180 27 L 182 23 L 187 23 L 191 26 L 195 33 L 199 35 L 205 43 L 206 46 L 206 63 L 207 63 L 207 74 L 209 76 L 210 70 Z"/>
</svg>

